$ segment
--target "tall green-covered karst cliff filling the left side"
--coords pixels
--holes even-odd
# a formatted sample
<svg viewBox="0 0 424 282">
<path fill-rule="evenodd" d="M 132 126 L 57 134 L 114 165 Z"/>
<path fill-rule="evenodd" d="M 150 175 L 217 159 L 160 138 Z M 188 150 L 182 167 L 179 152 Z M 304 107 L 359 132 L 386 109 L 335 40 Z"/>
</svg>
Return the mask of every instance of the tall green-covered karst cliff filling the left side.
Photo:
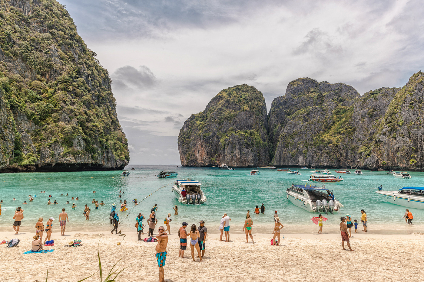
<svg viewBox="0 0 424 282">
<path fill-rule="evenodd" d="M 0 170 L 122 169 L 111 80 L 54 0 L 0 0 Z"/>
</svg>

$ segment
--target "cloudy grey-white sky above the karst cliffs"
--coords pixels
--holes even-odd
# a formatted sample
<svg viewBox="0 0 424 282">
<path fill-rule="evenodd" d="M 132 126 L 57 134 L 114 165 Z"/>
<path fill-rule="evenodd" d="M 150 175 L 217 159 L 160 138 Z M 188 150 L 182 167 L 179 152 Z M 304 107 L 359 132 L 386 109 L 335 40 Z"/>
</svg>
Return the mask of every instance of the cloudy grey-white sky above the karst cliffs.
<svg viewBox="0 0 424 282">
<path fill-rule="evenodd" d="M 184 121 L 246 83 L 267 108 L 299 77 L 362 95 L 424 71 L 419 0 L 60 0 L 112 78 L 130 164 L 180 164 Z"/>
</svg>

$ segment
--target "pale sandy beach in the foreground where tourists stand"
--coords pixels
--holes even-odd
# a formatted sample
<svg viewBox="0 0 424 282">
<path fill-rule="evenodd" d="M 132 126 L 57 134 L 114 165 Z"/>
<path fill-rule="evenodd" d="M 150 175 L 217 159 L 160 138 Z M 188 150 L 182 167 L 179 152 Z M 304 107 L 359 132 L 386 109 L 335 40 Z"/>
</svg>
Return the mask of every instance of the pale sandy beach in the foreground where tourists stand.
<svg viewBox="0 0 424 282">
<path fill-rule="evenodd" d="M 175 228 L 176 230 L 176 228 Z M 171 230 L 172 231 L 172 230 Z M 336 232 L 337 230 L 332 230 Z M 156 243 L 137 241 L 137 234 L 109 231 L 96 233 L 68 232 L 52 234 L 55 246 L 46 254 L 23 254 L 31 249 L 32 232 L 0 232 L 1 240 L 19 238 L 19 247 L 0 246 L 3 258 L 2 281 L 76 282 L 98 271 L 97 246 L 103 271 L 123 258 L 120 281 L 158 281 Z M 156 235 L 156 233 L 155 233 Z M 271 234 L 254 234 L 255 244 L 245 243 L 242 234 L 232 235 L 229 243 L 220 242 L 218 234 L 206 240 L 205 263 L 193 262 L 187 246 L 184 259 L 178 257 L 179 238 L 170 235 L 165 265 L 165 281 L 423 281 L 422 241 L 424 235 L 352 234 L 354 252 L 343 251 L 340 234 L 287 234 L 281 246 L 271 246 Z M 145 233 L 144 237 L 147 237 Z M 83 246 L 65 247 L 69 241 L 82 240 Z M 5 245 L 2 245 L 5 246 Z M 347 248 L 347 246 L 346 246 Z M 103 276 L 104 279 L 104 276 Z M 95 274 L 85 281 L 99 281 Z"/>
</svg>

